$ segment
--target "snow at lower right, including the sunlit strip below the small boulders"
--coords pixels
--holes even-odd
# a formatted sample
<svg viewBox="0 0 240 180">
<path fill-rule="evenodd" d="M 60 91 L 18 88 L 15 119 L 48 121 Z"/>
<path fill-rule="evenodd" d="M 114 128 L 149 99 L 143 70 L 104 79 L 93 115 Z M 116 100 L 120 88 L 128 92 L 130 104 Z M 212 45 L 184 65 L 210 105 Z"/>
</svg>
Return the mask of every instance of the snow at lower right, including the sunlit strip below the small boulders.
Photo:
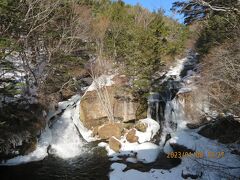
<svg viewBox="0 0 240 180">
<path fill-rule="evenodd" d="M 188 129 L 183 122 L 181 128 L 171 133 L 172 138 L 167 141 L 164 147 L 157 146 L 149 142 L 143 144 L 127 143 L 121 141 L 123 148 L 119 154 L 130 155 L 126 161 L 137 163 L 142 161 L 143 163 L 154 162 L 159 152 L 163 151 L 166 154 L 173 152 L 170 144 L 178 144 L 185 146 L 188 149 L 200 153 L 200 156 L 192 153 L 192 155 L 182 157 L 180 165 L 170 169 L 151 169 L 149 172 L 141 172 L 135 169 L 125 171 L 127 165 L 124 163 L 114 162 L 111 165 L 111 172 L 109 177 L 111 180 L 156 180 L 156 179 L 184 179 L 188 175 L 196 176 L 198 179 L 238 179 L 240 177 L 240 157 L 232 154 L 230 145 L 224 145 L 218 143 L 215 140 L 207 139 L 197 133 L 197 130 Z M 142 147 L 142 148 L 141 148 Z M 115 152 L 108 148 L 109 155 L 114 158 L 111 160 L 118 160 Z M 141 150 L 144 151 L 141 152 Z M 136 158 L 131 157 L 131 153 L 137 153 Z M 189 176 L 189 179 L 190 176 Z"/>
</svg>

